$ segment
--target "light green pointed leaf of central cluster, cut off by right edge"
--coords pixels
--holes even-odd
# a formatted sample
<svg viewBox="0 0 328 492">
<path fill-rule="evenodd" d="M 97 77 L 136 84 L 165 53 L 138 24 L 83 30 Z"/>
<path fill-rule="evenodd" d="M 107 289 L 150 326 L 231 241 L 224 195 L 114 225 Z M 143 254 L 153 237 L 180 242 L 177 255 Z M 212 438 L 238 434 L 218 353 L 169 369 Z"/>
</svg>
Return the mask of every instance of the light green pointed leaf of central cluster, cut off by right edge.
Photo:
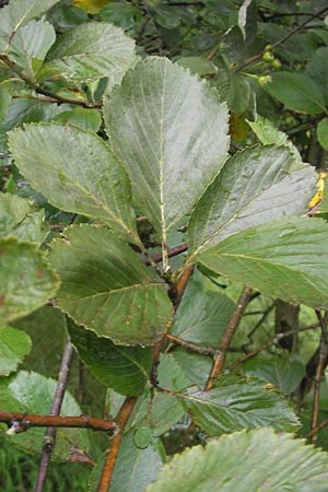
<svg viewBox="0 0 328 492">
<path fill-rule="evenodd" d="M 286 219 L 248 229 L 198 260 L 266 295 L 328 307 L 328 229 L 320 219 Z"/>
</svg>

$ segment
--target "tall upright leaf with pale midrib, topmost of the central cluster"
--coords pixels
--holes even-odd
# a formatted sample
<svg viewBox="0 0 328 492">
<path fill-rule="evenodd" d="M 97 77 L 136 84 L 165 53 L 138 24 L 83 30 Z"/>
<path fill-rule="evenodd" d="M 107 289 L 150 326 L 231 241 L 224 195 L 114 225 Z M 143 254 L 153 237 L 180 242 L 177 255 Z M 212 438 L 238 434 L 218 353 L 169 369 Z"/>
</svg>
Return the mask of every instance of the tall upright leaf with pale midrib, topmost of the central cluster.
<svg viewBox="0 0 328 492">
<path fill-rule="evenodd" d="M 148 58 L 105 101 L 115 152 L 134 199 L 166 243 L 226 156 L 227 113 L 216 94 L 166 59 Z"/>
</svg>

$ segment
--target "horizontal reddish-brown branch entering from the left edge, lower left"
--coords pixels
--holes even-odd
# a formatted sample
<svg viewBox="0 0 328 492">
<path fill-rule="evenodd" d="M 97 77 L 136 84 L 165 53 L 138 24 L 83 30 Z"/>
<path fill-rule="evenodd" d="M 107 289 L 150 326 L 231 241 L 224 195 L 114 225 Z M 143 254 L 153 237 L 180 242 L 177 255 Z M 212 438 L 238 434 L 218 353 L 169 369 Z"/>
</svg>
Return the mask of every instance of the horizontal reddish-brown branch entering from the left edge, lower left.
<svg viewBox="0 0 328 492">
<path fill-rule="evenodd" d="M 101 420 L 89 415 L 61 417 L 36 415 L 33 413 L 0 410 L 0 422 L 9 426 L 8 434 L 19 434 L 32 427 L 81 427 L 93 431 L 113 432 L 117 425 L 112 420 Z"/>
</svg>

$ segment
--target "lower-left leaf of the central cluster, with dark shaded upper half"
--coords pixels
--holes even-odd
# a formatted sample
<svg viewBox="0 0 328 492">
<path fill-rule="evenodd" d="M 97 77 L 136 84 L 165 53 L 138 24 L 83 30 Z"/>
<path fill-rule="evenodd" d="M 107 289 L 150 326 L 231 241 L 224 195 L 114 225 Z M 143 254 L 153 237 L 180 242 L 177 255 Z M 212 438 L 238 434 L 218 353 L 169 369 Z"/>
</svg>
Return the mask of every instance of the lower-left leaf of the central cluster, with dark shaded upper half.
<svg viewBox="0 0 328 492">
<path fill-rule="evenodd" d="M 106 229 L 71 227 L 52 246 L 58 305 L 116 344 L 151 344 L 172 315 L 166 285 Z"/>
</svg>

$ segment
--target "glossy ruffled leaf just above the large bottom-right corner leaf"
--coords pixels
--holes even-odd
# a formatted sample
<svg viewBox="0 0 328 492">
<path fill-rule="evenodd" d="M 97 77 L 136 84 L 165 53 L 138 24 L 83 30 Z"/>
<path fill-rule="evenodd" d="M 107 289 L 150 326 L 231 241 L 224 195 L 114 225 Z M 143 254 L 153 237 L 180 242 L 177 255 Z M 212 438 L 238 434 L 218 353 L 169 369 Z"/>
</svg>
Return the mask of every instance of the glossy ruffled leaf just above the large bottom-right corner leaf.
<svg viewBox="0 0 328 492">
<path fill-rule="evenodd" d="M 267 425 L 290 432 L 298 426 L 291 402 L 256 378 L 221 376 L 211 391 L 191 388 L 184 405 L 209 435 Z"/>
</svg>

